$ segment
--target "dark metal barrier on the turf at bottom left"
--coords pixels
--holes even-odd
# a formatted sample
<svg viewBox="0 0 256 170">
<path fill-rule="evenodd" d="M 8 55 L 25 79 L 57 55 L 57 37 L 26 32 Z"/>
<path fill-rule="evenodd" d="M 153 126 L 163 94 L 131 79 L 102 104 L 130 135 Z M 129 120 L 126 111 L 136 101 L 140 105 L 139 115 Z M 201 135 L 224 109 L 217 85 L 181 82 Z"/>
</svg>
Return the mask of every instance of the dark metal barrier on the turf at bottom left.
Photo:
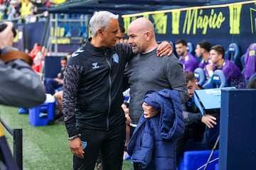
<svg viewBox="0 0 256 170">
<path fill-rule="evenodd" d="M 19 169 L 23 169 L 23 155 L 22 155 L 22 129 L 11 129 L 9 128 L 4 120 L 0 118 L 1 124 L 4 128 L 13 136 L 14 143 L 14 160 Z"/>
</svg>

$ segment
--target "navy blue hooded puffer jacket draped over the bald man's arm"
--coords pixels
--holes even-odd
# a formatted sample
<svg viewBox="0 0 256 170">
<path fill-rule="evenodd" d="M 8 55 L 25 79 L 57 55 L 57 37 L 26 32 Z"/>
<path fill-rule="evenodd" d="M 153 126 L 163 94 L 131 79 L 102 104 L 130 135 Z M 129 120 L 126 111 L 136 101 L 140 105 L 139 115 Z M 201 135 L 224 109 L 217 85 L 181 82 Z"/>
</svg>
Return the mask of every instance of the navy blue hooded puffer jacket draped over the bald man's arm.
<svg viewBox="0 0 256 170">
<path fill-rule="evenodd" d="M 184 132 L 181 98 L 176 90 L 148 91 L 144 102 L 161 114 L 144 118 L 142 114 L 129 141 L 127 152 L 142 169 L 176 169 L 176 139 Z"/>
</svg>

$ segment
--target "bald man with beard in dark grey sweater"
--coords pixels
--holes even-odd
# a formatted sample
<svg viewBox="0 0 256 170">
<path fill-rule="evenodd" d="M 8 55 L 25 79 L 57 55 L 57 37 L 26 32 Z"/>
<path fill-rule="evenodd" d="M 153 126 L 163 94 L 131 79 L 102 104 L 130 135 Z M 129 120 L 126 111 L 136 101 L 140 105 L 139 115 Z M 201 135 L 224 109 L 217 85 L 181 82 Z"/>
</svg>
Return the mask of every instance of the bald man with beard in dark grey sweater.
<svg viewBox="0 0 256 170">
<path fill-rule="evenodd" d="M 132 119 L 130 123 L 132 134 L 143 113 L 145 118 L 152 118 L 159 114 L 159 111 L 143 103 L 146 91 L 174 89 L 179 91 L 182 103 L 188 101 L 188 91 L 183 68 L 177 57 L 174 54 L 171 57 L 156 56 L 157 43 L 151 21 L 147 18 L 137 18 L 129 25 L 127 35 L 129 36 L 128 43 L 132 45 L 132 52 L 138 53 L 137 57 L 127 64 L 124 74 L 125 83 L 131 88 L 129 115 Z M 171 145 L 176 145 L 174 143 L 171 142 Z M 171 167 L 175 169 L 175 149 L 170 152 L 174 153 L 168 159 L 173 162 Z M 155 169 L 155 166 L 150 164 L 148 168 Z M 134 169 L 139 169 L 139 164 L 134 163 Z"/>
</svg>

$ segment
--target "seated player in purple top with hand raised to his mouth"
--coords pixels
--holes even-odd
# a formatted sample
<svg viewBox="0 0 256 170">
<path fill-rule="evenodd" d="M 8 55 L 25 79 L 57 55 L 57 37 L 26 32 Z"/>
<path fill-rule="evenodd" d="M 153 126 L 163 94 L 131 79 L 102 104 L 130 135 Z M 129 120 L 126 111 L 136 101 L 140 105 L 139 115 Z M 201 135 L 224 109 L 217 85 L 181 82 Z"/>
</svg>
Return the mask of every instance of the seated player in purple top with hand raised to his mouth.
<svg viewBox="0 0 256 170">
<path fill-rule="evenodd" d="M 237 88 L 245 87 L 245 77 L 242 72 L 233 62 L 224 59 L 225 49 L 222 45 L 214 45 L 210 48 L 210 64 L 206 65 L 206 76 L 211 77 L 216 69 L 222 69 L 225 78 L 228 81 L 228 86 Z"/>
</svg>

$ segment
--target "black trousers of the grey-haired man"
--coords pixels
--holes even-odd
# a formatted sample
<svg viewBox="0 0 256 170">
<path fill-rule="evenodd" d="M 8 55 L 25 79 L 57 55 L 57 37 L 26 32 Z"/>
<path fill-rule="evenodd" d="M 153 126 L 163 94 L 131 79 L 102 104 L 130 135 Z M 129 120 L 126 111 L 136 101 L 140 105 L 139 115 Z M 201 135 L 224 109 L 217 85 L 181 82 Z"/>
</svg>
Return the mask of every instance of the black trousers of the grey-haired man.
<svg viewBox="0 0 256 170">
<path fill-rule="evenodd" d="M 73 169 L 94 170 L 99 152 L 104 170 L 121 170 L 124 152 L 125 123 L 110 130 L 80 130 L 87 142 L 85 157 L 73 157 Z"/>
</svg>

